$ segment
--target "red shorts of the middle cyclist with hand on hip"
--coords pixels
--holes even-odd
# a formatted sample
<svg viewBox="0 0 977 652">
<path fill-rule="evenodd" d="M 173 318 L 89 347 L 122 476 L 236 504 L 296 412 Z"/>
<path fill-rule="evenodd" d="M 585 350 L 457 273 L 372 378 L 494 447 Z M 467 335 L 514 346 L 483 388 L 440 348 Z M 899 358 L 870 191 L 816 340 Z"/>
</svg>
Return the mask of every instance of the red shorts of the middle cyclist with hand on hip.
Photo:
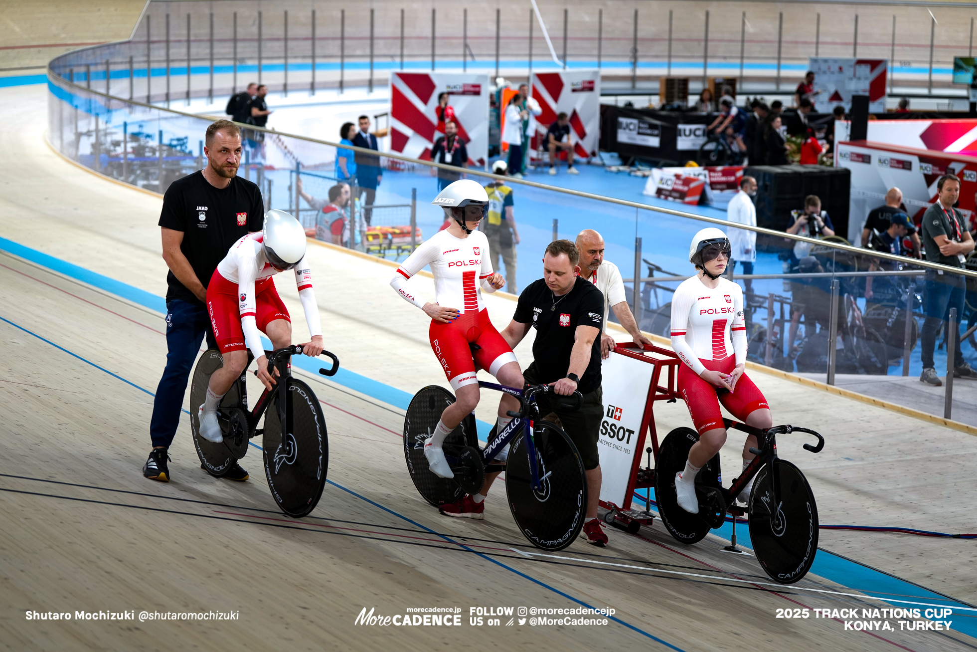
<svg viewBox="0 0 977 652">
<path fill-rule="evenodd" d="M 450 324 L 432 320 L 429 333 L 431 349 L 454 391 L 478 383 L 475 369 L 488 369 L 495 375 L 503 365 L 516 362 L 516 354 L 488 321 L 488 310 L 484 308 L 478 313 L 461 313 Z M 470 344 L 480 348 L 473 352 Z"/>
</svg>

